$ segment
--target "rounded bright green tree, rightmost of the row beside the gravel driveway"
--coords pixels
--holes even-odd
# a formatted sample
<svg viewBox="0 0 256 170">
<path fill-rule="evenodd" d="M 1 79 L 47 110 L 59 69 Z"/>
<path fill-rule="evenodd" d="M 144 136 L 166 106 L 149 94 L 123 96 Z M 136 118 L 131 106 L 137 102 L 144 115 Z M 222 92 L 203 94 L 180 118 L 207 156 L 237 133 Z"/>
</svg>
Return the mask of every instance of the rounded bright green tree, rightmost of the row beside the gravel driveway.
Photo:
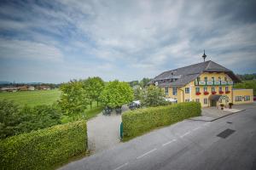
<svg viewBox="0 0 256 170">
<path fill-rule="evenodd" d="M 110 108 L 118 108 L 132 101 L 133 90 L 126 82 L 109 82 L 100 97 L 102 103 Z"/>
</svg>

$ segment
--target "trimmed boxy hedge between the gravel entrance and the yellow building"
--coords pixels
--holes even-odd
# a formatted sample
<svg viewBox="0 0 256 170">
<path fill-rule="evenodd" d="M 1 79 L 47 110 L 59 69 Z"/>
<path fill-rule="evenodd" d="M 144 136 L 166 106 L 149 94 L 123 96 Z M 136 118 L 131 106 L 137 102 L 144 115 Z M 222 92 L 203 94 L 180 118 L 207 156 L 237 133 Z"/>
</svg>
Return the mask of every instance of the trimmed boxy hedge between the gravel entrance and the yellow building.
<svg viewBox="0 0 256 170">
<path fill-rule="evenodd" d="M 127 111 L 122 115 L 123 135 L 124 138 L 131 139 L 155 127 L 170 125 L 200 115 L 201 104 L 197 102 Z"/>
</svg>

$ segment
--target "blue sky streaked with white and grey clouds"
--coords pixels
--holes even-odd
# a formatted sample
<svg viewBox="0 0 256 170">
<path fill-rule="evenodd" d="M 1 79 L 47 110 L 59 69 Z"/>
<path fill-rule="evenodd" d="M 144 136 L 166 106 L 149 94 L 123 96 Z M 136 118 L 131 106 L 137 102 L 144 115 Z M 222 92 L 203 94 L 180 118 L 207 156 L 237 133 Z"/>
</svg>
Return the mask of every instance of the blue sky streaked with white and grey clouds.
<svg viewBox="0 0 256 170">
<path fill-rule="evenodd" d="M 0 81 L 153 78 L 207 60 L 256 72 L 256 1 L 0 1 Z"/>
</svg>

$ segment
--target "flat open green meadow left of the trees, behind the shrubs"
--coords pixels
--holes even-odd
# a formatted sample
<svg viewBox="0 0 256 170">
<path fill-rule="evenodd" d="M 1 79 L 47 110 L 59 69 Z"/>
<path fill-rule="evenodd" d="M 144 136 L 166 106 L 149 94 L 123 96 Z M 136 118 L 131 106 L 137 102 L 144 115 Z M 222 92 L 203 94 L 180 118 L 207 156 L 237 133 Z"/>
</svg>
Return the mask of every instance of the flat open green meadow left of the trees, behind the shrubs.
<svg viewBox="0 0 256 170">
<path fill-rule="evenodd" d="M 51 105 L 60 98 L 60 95 L 61 91 L 59 89 L 36 90 L 0 93 L 0 99 L 14 100 L 19 105 Z"/>
</svg>

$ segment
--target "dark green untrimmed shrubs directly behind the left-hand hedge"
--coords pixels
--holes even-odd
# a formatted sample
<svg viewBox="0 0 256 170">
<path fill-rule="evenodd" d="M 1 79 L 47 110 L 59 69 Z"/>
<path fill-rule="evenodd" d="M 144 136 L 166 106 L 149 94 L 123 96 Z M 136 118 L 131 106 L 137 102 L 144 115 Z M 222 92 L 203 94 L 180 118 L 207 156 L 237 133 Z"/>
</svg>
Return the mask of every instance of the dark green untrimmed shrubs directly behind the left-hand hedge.
<svg viewBox="0 0 256 170">
<path fill-rule="evenodd" d="M 57 124 L 61 124 L 61 113 L 54 105 L 20 108 L 13 101 L 0 100 L 0 139 Z"/>
</svg>

